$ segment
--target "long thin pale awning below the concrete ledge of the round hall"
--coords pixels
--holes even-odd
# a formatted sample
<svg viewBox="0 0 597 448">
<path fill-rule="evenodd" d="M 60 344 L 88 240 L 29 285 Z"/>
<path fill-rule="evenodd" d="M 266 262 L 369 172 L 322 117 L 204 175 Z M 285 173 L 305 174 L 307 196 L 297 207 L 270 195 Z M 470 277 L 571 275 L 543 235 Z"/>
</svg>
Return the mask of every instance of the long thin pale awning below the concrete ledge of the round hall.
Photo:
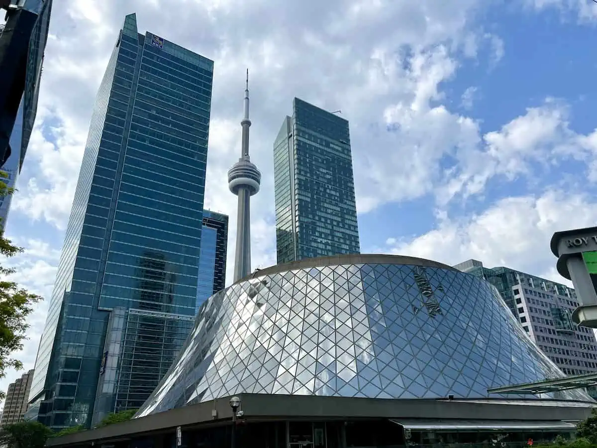
<svg viewBox="0 0 597 448">
<path fill-rule="evenodd" d="M 559 420 L 390 419 L 411 431 L 574 431 L 576 425 Z"/>
</svg>

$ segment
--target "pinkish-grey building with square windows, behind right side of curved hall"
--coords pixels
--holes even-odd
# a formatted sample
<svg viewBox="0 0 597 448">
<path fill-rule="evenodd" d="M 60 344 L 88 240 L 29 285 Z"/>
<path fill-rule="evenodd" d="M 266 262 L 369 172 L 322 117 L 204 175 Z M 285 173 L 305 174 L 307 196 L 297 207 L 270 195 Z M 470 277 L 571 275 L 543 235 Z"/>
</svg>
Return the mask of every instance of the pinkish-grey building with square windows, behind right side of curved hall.
<svg viewBox="0 0 597 448">
<path fill-rule="evenodd" d="M 496 286 L 527 335 L 567 375 L 597 372 L 592 330 L 571 320 L 578 306 L 574 289 L 509 268 L 485 268 L 478 260 L 454 266 Z"/>
</svg>

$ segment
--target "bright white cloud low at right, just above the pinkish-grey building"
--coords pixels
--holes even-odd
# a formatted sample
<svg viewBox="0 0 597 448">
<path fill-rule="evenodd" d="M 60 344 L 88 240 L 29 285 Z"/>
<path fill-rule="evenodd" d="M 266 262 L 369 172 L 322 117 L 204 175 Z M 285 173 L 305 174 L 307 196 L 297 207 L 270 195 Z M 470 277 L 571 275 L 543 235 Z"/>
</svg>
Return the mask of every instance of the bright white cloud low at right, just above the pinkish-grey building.
<svg viewBox="0 0 597 448">
<path fill-rule="evenodd" d="M 443 217 L 432 231 L 392 237 L 380 251 L 455 265 L 477 259 L 488 268 L 506 266 L 564 283 L 555 271 L 549 241 L 554 232 L 595 225 L 597 201 L 590 195 L 550 190 L 539 196 L 510 197 L 483 213 Z"/>
</svg>

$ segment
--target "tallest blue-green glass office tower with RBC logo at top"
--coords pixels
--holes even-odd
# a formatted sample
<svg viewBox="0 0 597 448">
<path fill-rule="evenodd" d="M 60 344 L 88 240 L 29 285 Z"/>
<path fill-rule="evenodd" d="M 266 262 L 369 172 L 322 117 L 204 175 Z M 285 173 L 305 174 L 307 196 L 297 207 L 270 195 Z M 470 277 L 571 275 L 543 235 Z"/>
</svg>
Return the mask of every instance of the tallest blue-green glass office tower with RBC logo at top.
<svg viewBox="0 0 597 448">
<path fill-rule="evenodd" d="M 126 17 L 91 118 L 27 416 L 59 429 L 140 406 L 187 336 L 212 81 L 211 60 Z"/>
</svg>

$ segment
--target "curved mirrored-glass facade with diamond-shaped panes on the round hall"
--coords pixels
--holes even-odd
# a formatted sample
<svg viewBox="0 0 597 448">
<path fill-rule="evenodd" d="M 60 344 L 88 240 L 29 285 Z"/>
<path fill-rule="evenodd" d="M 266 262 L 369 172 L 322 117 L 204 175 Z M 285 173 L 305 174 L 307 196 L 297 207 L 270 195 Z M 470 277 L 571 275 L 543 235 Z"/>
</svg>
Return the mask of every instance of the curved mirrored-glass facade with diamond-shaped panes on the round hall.
<svg viewBox="0 0 597 448">
<path fill-rule="evenodd" d="M 565 376 L 493 286 L 441 263 L 343 255 L 252 277 L 202 305 L 137 417 L 242 392 L 487 398 Z M 507 397 L 591 401 L 581 390 Z"/>
</svg>

